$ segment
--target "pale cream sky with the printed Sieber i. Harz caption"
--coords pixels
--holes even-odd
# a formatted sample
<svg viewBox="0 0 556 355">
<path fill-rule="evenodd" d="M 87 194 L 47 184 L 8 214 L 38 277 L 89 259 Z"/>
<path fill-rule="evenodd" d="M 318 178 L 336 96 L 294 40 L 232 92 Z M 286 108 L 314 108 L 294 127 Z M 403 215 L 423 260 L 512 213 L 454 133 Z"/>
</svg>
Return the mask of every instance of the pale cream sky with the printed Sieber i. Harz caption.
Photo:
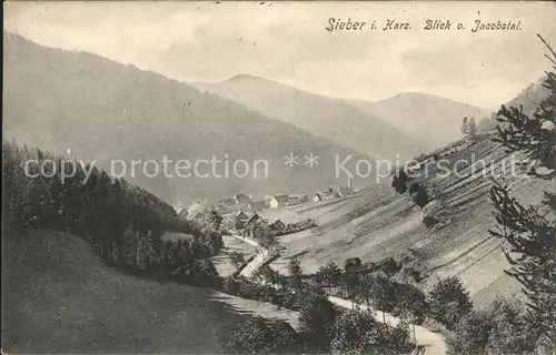
<svg viewBox="0 0 556 355">
<path fill-rule="evenodd" d="M 247 73 L 328 97 L 425 92 L 495 109 L 536 82 L 556 48 L 555 2 L 4 2 L 4 30 L 187 82 Z M 367 22 L 329 33 L 329 18 Z M 450 31 L 425 31 L 449 20 Z M 369 23 L 377 21 L 377 30 Z M 387 20 L 410 30 L 383 31 Z M 522 21 L 471 32 L 474 21 Z M 455 26 L 463 22 L 465 30 Z"/>
</svg>

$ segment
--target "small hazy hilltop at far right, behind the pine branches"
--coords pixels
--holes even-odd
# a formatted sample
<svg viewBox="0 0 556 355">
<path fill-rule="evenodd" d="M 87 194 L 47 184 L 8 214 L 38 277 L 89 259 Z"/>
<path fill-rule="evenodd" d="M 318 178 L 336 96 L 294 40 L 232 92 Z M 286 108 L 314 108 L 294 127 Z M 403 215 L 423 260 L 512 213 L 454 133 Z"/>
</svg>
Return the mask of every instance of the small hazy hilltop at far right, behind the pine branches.
<svg viewBox="0 0 556 355">
<path fill-rule="evenodd" d="M 543 85 L 546 77 L 540 78 L 537 82 L 530 83 L 520 93 L 518 93 L 514 99 L 506 102 L 506 106 L 519 106 L 523 105 L 523 110 L 527 114 L 533 114 L 538 104 L 548 97 L 549 91 Z M 496 121 L 496 112 L 493 112 L 489 116 L 481 120 L 478 124 L 478 129 L 483 131 L 489 131 L 496 128 L 498 122 Z"/>
</svg>

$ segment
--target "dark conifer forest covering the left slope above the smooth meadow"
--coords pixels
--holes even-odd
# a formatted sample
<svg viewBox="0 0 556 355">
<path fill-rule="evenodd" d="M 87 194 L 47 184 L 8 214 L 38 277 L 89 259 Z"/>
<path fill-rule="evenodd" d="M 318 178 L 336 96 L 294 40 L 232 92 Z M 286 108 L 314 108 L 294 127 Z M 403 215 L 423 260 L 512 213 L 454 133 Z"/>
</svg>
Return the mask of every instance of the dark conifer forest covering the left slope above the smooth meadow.
<svg viewBox="0 0 556 355">
<path fill-rule="evenodd" d="M 62 179 L 72 166 L 73 176 Z M 86 171 L 90 171 L 88 179 Z M 217 231 L 180 220 L 156 195 L 97 166 L 2 142 L 2 179 L 6 226 L 49 227 L 75 234 L 102 262 L 141 275 L 190 282 L 217 276 L 208 261 L 222 244 Z M 163 242 L 166 231 L 188 233 L 195 239 Z"/>
</svg>

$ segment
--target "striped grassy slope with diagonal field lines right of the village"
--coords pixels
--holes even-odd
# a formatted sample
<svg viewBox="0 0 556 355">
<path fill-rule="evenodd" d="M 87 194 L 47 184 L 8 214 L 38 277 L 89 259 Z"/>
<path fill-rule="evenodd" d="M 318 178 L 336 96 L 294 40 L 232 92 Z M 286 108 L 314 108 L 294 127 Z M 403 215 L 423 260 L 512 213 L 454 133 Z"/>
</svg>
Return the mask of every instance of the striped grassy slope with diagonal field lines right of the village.
<svg viewBox="0 0 556 355">
<path fill-rule="evenodd" d="M 488 139 L 449 156 L 458 159 L 497 161 L 507 156 L 504 149 Z M 288 256 L 301 255 L 306 271 L 316 271 L 329 261 L 342 264 L 350 256 L 364 262 L 396 256 L 414 248 L 430 272 L 428 281 L 436 276 L 459 275 L 477 303 L 487 303 L 497 294 L 514 293 L 516 283 L 504 275 L 507 262 L 500 251 L 500 241 L 487 230 L 495 226 L 488 190 L 489 175 L 476 179 L 437 178 L 430 170 L 428 183 L 443 194 L 448 203 L 451 223 L 436 232 L 421 223 L 423 212 L 407 196 L 396 195 L 384 184 L 373 186 L 357 196 L 324 206 L 299 207 L 302 217 L 312 217 L 319 227 L 310 232 L 284 236 L 287 247 L 285 257 L 277 261 L 285 266 Z M 525 204 L 536 204 L 543 191 L 554 191 L 554 182 L 536 179 L 509 179 L 514 195 Z"/>
</svg>

